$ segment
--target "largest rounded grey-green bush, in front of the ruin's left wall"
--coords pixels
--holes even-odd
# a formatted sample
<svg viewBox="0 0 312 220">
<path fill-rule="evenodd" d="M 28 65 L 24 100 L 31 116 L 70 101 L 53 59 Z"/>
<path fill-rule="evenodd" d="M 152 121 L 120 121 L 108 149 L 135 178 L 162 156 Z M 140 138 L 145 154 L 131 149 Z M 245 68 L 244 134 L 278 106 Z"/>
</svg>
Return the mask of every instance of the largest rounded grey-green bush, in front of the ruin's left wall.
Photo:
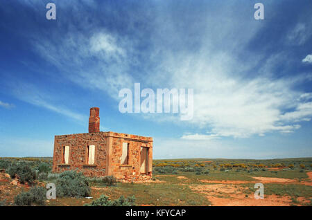
<svg viewBox="0 0 312 220">
<path fill-rule="evenodd" d="M 67 170 L 56 179 L 56 195 L 59 197 L 86 197 L 91 194 L 87 178 L 81 172 Z"/>
</svg>

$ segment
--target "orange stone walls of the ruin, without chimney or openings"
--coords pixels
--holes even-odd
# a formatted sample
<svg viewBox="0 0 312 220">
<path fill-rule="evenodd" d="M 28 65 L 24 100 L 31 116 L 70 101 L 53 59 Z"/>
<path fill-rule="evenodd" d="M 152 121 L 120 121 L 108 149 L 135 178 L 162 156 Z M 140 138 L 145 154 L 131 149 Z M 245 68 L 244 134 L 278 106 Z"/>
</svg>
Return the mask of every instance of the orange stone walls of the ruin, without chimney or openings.
<svg viewBox="0 0 312 220">
<path fill-rule="evenodd" d="M 123 143 L 129 143 L 128 165 L 121 165 Z M 94 165 L 87 164 L 87 146 L 95 145 Z M 63 147 L 69 146 L 69 164 L 62 163 Z M 140 149 L 148 147 L 148 172 L 140 174 Z M 78 169 L 86 176 L 116 176 L 125 181 L 148 179 L 153 170 L 153 138 L 114 132 L 55 136 L 53 172 Z M 144 176 L 144 177 L 142 177 Z"/>
</svg>

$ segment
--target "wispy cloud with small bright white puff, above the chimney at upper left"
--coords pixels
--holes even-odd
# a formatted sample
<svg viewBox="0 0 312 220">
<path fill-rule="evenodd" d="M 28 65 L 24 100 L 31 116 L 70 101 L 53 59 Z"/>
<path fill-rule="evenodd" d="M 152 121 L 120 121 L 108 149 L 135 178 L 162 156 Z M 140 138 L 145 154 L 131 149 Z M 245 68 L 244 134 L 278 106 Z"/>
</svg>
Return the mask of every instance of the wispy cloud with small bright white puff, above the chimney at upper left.
<svg viewBox="0 0 312 220">
<path fill-rule="evenodd" d="M 73 30 L 58 44 L 41 38 L 33 44 L 64 77 L 85 88 L 98 89 L 118 98 L 120 89 L 131 88 L 134 84 L 129 74 L 133 59 L 127 55 L 127 51 L 132 50 L 131 44 L 106 30 L 96 30 L 92 35 Z"/>
</svg>

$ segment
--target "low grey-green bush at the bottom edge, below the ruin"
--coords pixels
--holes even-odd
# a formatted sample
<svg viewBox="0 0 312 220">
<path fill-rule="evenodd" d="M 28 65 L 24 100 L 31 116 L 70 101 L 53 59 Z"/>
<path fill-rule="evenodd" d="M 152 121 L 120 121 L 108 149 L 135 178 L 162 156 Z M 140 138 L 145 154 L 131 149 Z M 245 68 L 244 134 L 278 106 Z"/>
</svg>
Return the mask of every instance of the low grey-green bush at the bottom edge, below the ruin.
<svg viewBox="0 0 312 220">
<path fill-rule="evenodd" d="M 100 198 L 85 204 L 86 206 L 133 206 L 135 205 L 135 196 L 125 198 L 120 196 L 119 199 L 110 200 L 108 196 L 101 194 Z"/>
</svg>

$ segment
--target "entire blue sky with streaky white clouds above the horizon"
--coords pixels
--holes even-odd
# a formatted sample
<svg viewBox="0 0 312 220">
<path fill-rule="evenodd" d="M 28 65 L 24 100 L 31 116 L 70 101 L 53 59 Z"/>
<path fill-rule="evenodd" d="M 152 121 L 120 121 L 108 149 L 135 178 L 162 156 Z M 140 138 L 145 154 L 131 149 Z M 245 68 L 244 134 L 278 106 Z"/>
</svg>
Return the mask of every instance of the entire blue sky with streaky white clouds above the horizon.
<svg viewBox="0 0 312 220">
<path fill-rule="evenodd" d="M 90 107 L 154 158 L 312 156 L 312 2 L 257 2 L 2 1 L 0 156 L 52 156 Z M 193 119 L 120 113 L 135 82 L 193 89 Z"/>
</svg>

